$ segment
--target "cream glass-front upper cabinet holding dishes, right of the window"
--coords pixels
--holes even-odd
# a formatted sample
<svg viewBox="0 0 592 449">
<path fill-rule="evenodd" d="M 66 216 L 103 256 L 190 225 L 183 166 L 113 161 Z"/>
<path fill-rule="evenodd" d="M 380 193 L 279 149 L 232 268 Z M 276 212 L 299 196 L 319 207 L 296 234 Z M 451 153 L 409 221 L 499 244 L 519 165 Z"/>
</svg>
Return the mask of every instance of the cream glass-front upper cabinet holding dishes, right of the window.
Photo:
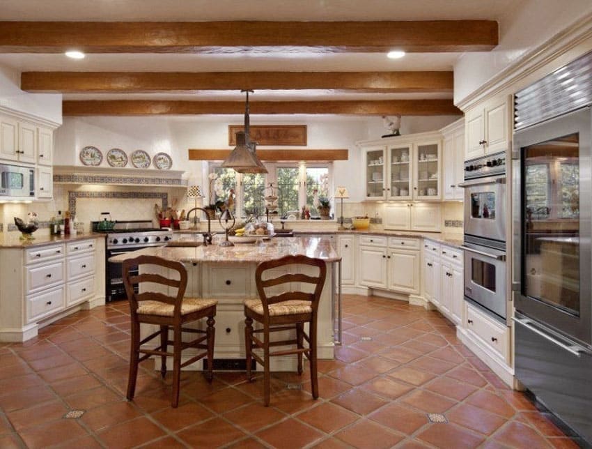
<svg viewBox="0 0 592 449">
<path fill-rule="evenodd" d="M 440 199 L 441 140 L 412 142 L 407 136 L 388 140 L 383 145 L 361 145 L 366 199 Z"/>
</svg>

